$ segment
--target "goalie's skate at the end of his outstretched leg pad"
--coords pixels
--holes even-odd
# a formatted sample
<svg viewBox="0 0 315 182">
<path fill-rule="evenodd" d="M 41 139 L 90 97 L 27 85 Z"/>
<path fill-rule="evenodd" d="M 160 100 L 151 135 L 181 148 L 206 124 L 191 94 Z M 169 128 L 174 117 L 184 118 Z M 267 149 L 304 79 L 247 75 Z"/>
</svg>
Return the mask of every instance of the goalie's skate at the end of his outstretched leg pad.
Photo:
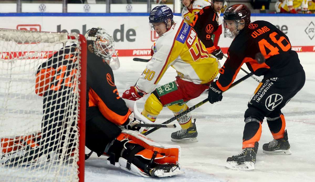
<svg viewBox="0 0 315 182">
<path fill-rule="evenodd" d="M 150 175 L 155 177 L 167 177 L 178 174 L 184 174 L 184 172 L 180 171 L 178 164 L 161 164 L 150 169 Z"/>
</svg>

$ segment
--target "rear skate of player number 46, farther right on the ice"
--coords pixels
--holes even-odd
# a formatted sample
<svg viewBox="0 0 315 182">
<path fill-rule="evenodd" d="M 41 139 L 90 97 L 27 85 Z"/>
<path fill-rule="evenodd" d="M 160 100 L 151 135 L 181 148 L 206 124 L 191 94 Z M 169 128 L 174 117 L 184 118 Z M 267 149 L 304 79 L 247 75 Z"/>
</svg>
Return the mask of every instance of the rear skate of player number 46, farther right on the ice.
<svg viewBox="0 0 315 182">
<path fill-rule="evenodd" d="M 289 155 L 291 154 L 290 144 L 288 141 L 287 130 L 284 132 L 284 137 L 282 139 L 273 139 L 268 144 L 262 146 L 262 152 L 265 154 L 276 154 L 276 155 Z"/>
</svg>

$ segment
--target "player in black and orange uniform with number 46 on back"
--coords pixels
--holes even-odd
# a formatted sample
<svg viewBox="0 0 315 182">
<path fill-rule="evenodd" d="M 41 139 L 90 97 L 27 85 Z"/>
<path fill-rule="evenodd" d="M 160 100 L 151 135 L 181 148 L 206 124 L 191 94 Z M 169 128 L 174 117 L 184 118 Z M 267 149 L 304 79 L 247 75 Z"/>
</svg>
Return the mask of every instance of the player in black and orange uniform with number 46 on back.
<svg viewBox="0 0 315 182">
<path fill-rule="evenodd" d="M 263 145 L 263 152 L 291 154 L 281 109 L 304 86 L 305 72 L 297 53 L 291 50 L 289 38 L 267 21 L 250 23 L 250 10 L 246 5 L 229 7 L 223 24 L 227 28 L 226 36 L 234 40 L 219 79 L 210 85 L 209 102 L 222 100 L 222 92 L 232 84 L 243 63 L 255 75 L 264 75 L 244 114 L 243 151 L 227 158 L 226 164 L 226 168 L 253 170 L 265 117 L 274 139 Z M 257 53 L 265 57 L 265 63 L 257 63 Z"/>
</svg>

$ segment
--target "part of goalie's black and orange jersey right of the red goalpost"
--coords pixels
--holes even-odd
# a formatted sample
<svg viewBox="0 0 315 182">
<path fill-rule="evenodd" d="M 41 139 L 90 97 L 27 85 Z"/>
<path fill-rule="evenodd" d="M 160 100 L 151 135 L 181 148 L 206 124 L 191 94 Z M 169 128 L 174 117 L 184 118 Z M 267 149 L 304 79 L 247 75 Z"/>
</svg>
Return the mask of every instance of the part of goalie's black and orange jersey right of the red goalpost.
<svg viewBox="0 0 315 182">
<path fill-rule="evenodd" d="M 117 125 L 129 122 L 131 111 L 118 95 L 112 68 L 100 56 L 89 51 L 87 62 L 86 119 L 100 111 L 107 120 Z"/>
</svg>

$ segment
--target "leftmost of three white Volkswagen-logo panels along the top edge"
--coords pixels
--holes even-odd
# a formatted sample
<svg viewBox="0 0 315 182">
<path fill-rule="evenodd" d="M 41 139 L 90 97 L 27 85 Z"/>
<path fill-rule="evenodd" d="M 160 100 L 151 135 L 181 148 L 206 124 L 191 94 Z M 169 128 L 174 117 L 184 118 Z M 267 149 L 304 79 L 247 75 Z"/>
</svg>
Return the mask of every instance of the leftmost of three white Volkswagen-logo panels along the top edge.
<svg viewBox="0 0 315 182">
<path fill-rule="evenodd" d="M 22 12 L 26 12 L 26 13 L 62 13 L 62 4 L 22 3 Z"/>
</svg>

